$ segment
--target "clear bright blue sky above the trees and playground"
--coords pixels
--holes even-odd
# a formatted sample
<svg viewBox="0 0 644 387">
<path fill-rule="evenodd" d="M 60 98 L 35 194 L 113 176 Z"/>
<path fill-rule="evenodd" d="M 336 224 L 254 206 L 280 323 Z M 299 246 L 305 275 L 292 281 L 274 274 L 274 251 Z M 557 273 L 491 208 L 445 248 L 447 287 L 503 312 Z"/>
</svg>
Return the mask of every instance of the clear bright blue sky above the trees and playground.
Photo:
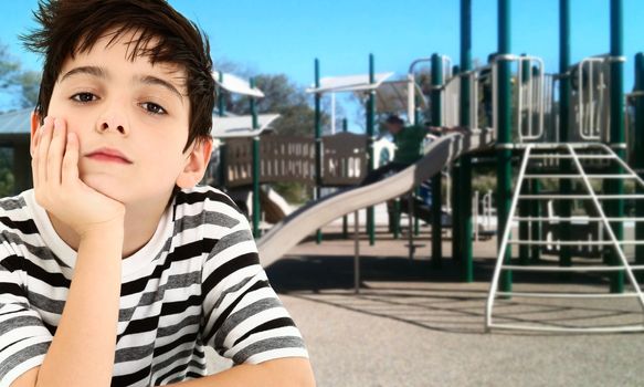
<svg viewBox="0 0 644 387">
<path fill-rule="evenodd" d="M 433 52 L 458 62 L 457 0 L 170 0 L 208 33 L 212 56 L 242 63 L 257 73 L 285 73 L 300 85 L 313 83 L 313 63 L 321 74 L 366 73 L 368 55 L 376 71 L 407 73 L 416 57 Z M 33 25 L 35 0 L 0 2 L 0 40 L 29 69 L 17 34 Z M 558 70 L 559 0 L 514 0 L 511 49 Z M 623 0 L 625 88 L 633 86 L 634 54 L 644 51 L 644 1 Z M 610 0 L 571 0 L 572 61 L 610 50 Z M 497 1 L 473 0 L 473 56 L 485 61 L 497 48 Z"/>
</svg>

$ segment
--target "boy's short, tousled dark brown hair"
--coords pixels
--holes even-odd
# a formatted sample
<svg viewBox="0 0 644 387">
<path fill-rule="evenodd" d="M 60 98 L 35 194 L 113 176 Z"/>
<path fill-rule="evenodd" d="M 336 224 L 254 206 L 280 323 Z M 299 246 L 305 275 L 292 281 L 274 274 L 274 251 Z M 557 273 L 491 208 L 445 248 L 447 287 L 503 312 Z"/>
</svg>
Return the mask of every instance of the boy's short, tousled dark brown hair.
<svg viewBox="0 0 644 387">
<path fill-rule="evenodd" d="M 152 64 L 172 63 L 186 72 L 190 100 L 186 149 L 196 139 L 210 136 L 214 107 L 214 80 L 210 44 L 205 34 L 165 0 L 41 0 L 33 12 L 40 28 L 20 36 L 24 45 L 44 55 L 35 112 L 47 114 L 54 84 L 64 61 L 91 50 L 106 32 L 108 44 L 134 31 L 129 60 L 147 56 Z"/>
</svg>

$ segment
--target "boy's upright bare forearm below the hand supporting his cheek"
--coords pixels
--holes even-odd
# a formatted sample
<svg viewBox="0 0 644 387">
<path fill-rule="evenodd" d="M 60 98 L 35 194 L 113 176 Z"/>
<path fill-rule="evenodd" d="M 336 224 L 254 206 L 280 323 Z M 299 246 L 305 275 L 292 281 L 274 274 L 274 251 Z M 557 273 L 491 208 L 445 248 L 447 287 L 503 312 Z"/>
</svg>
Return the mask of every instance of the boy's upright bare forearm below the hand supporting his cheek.
<svg viewBox="0 0 644 387">
<path fill-rule="evenodd" d="M 120 296 L 123 227 L 85 236 L 36 386 L 109 386 Z"/>
</svg>

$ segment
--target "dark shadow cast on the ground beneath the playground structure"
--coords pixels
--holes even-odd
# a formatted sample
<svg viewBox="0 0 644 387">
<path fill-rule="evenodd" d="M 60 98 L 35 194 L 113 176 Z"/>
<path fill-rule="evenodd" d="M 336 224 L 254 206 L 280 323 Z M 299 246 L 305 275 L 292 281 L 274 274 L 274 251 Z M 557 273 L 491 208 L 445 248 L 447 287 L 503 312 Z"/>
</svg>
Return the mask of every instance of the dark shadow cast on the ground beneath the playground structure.
<svg viewBox="0 0 644 387">
<path fill-rule="evenodd" d="M 287 257 L 266 269 L 273 287 L 316 303 L 448 333 L 482 334 L 494 259 L 476 259 L 474 283 L 462 282 L 462 266 L 446 259 L 440 269 L 429 260 L 361 257 L 360 294 L 355 294 L 353 258 Z M 517 283 L 546 291 L 608 289 L 605 278 L 514 273 Z M 562 285 L 564 283 L 564 285 Z M 518 285 L 517 285 L 518 287 Z M 641 321 L 641 308 L 614 302 L 566 304 L 558 300 L 497 300 L 496 318 L 513 324 L 610 326 Z M 521 333 L 534 335 L 534 333 Z"/>
</svg>

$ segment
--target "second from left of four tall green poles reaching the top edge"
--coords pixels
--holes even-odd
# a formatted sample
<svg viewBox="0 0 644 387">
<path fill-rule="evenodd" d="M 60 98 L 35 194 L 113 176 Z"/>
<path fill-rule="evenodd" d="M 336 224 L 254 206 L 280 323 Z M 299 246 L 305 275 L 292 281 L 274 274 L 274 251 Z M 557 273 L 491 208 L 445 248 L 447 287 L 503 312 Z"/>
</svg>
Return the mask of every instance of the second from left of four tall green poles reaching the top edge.
<svg viewBox="0 0 644 387">
<path fill-rule="evenodd" d="M 510 0 L 498 0 L 498 53 L 510 53 Z M 497 129 L 497 203 L 498 228 L 497 236 L 503 236 L 508 223 L 511 200 L 511 90 L 510 90 L 510 63 L 507 60 L 498 60 L 498 129 Z M 500 248 L 500 238 L 498 244 Z M 506 249 L 505 263 L 511 259 L 511 250 Z M 500 287 L 504 292 L 511 292 L 511 271 L 502 273 Z"/>
</svg>

